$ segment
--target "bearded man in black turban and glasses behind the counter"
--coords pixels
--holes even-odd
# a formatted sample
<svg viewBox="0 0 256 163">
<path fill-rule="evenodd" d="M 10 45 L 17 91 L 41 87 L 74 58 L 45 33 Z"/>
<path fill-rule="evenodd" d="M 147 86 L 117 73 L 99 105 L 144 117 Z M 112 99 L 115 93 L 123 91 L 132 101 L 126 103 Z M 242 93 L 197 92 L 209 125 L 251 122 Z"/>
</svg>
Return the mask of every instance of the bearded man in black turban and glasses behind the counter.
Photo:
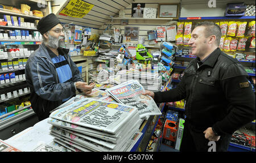
<svg viewBox="0 0 256 163">
<path fill-rule="evenodd" d="M 43 42 L 28 58 L 25 74 L 31 107 L 41 121 L 49 117 L 49 111 L 75 96 L 76 90 L 89 94 L 95 84 L 88 85 L 82 80 L 81 72 L 68 55 L 69 50 L 61 48 L 64 29 L 55 14 L 40 19 L 37 28 Z"/>
</svg>

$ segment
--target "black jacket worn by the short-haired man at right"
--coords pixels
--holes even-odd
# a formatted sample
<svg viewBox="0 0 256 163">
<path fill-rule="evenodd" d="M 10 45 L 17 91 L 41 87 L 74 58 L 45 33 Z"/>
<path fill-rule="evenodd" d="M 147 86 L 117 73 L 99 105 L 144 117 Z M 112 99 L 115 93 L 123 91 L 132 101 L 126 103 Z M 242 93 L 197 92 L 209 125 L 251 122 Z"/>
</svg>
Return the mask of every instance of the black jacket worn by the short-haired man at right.
<svg viewBox="0 0 256 163">
<path fill-rule="evenodd" d="M 155 102 L 186 100 L 186 121 L 197 131 L 213 127 L 218 135 L 232 134 L 255 119 L 255 94 L 247 72 L 237 61 L 214 50 L 197 68 L 193 59 L 175 89 L 156 92 Z"/>
</svg>

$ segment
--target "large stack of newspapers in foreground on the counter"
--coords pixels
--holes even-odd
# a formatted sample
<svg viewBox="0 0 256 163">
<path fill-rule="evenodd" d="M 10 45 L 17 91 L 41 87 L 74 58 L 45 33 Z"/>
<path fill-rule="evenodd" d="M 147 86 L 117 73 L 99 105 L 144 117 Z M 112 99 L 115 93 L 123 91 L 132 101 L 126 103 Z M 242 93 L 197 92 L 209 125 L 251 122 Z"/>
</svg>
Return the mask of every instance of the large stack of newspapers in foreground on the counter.
<svg viewBox="0 0 256 163">
<path fill-rule="evenodd" d="M 50 135 L 81 151 L 130 151 L 142 135 L 137 108 L 115 102 L 82 98 L 49 117 Z"/>
</svg>

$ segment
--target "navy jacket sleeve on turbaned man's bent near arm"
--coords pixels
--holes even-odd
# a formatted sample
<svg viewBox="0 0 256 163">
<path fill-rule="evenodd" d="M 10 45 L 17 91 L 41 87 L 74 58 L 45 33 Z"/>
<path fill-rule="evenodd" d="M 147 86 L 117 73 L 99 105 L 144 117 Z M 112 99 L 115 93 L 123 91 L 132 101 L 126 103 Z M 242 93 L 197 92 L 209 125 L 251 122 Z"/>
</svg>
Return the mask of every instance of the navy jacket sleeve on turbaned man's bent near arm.
<svg viewBox="0 0 256 163">
<path fill-rule="evenodd" d="M 53 76 L 50 68 L 41 59 L 28 62 L 26 73 L 32 80 L 35 93 L 49 101 L 59 101 L 75 95 L 76 89 L 73 81 L 56 83 L 58 78 Z M 56 72 L 54 72 L 56 73 Z"/>
</svg>

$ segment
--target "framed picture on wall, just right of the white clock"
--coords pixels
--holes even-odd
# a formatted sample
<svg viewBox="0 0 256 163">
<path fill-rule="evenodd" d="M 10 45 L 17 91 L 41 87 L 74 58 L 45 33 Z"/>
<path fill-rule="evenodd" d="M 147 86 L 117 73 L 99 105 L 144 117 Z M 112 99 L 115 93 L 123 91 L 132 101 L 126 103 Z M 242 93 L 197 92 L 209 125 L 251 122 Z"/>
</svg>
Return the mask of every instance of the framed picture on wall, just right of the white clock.
<svg viewBox="0 0 256 163">
<path fill-rule="evenodd" d="M 158 18 L 179 19 L 180 3 L 159 3 Z"/>
</svg>

